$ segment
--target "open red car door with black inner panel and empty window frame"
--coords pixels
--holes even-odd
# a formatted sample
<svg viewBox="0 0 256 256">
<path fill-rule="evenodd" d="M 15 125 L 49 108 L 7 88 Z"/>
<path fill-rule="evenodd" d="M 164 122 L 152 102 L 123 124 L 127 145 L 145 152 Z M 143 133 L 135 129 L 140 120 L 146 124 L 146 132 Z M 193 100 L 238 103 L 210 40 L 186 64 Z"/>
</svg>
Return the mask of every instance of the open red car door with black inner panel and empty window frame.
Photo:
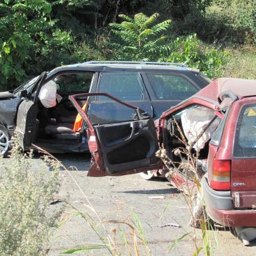
<svg viewBox="0 0 256 256">
<path fill-rule="evenodd" d="M 105 93 L 92 93 L 86 96 L 107 96 L 115 103 L 137 110 L 136 107 Z M 81 110 L 75 100 L 85 94 L 70 96 L 87 124 L 88 146 L 92 160 L 88 176 L 119 176 L 154 170 L 160 166 L 160 159 L 155 156 L 158 146 L 154 121 L 147 116 L 138 115 L 129 121 L 92 124 L 88 115 Z M 122 107 L 123 107 L 122 106 Z M 119 111 L 122 108 L 119 108 Z M 117 108 L 118 110 L 118 108 Z M 122 113 L 122 112 L 121 112 Z"/>
</svg>

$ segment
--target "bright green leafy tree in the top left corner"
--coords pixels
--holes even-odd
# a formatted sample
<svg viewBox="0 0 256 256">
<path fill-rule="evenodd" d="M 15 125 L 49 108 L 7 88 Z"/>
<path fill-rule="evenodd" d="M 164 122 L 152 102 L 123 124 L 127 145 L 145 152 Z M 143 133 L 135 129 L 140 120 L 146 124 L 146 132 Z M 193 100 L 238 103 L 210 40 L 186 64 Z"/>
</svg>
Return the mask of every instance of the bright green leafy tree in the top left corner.
<svg viewBox="0 0 256 256">
<path fill-rule="evenodd" d="M 0 4 L 0 83 L 21 81 L 30 69 L 34 43 L 54 21 L 49 14 L 51 5 L 44 0 L 10 1 Z"/>
</svg>

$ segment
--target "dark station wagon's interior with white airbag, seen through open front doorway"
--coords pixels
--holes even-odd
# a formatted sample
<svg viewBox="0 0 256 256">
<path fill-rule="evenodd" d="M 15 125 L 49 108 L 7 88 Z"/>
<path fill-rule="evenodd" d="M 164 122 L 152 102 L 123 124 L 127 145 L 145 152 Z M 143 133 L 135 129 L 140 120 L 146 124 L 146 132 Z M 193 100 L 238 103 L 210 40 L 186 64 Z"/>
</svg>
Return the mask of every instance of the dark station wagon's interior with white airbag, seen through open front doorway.
<svg viewBox="0 0 256 256">
<path fill-rule="evenodd" d="M 34 141 L 37 146 L 49 148 L 49 145 L 52 145 L 50 146 L 51 152 L 58 152 L 58 149 L 54 150 L 55 146 L 60 148 L 59 144 L 63 144 L 64 147 L 73 147 L 75 151 L 83 151 L 83 147 L 80 145 L 82 134 L 80 130 L 73 129 L 78 113 L 72 102 L 70 102 L 69 96 L 88 92 L 92 77 L 92 73 L 59 75 L 51 81 L 51 88 L 54 88 L 54 84 L 56 85 L 56 88 L 52 89 L 53 91 L 43 94 L 42 99 L 40 99 L 39 94 L 36 132 L 34 135 Z M 43 87 L 41 91 L 43 91 Z M 81 107 L 85 103 L 85 98 L 78 100 L 78 104 Z M 83 133 L 84 137 L 85 135 Z M 62 152 L 62 149 L 59 151 Z M 63 149 L 63 151 L 65 150 Z"/>
</svg>

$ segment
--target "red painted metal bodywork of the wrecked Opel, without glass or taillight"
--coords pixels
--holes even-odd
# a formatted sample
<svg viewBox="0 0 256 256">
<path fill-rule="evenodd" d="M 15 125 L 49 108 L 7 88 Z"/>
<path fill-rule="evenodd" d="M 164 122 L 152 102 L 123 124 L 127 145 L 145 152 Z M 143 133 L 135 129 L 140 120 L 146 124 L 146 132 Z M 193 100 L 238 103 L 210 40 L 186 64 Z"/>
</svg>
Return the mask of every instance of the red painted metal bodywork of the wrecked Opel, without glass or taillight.
<svg viewBox="0 0 256 256">
<path fill-rule="evenodd" d="M 243 86 L 243 89 L 241 89 L 241 86 Z M 230 94 L 230 100 L 228 102 L 222 101 L 227 96 L 226 94 L 228 94 L 226 93 L 226 91 L 232 91 L 232 94 Z M 90 95 L 95 94 L 83 94 L 83 96 Z M 213 205 L 207 205 L 206 203 L 206 211 L 208 212 L 209 216 L 217 223 L 222 225 L 228 225 L 230 227 L 241 225 L 250 227 L 256 225 L 256 157 L 244 159 L 238 159 L 233 157 L 236 126 L 238 125 L 239 113 L 244 105 L 256 103 L 255 95 L 255 80 L 220 78 L 214 80 L 213 83 L 201 89 L 201 91 L 197 92 L 197 94 L 185 100 L 184 102 L 181 102 L 181 104 L 178 104 L 176 105 L 176 107 L 165 111 L 162 116 L 160 116 L 160 119 L 155 122 L 159 145 L 165 146 L 165 143 L 167 141 L 167 133 L 165 131 L 166 122 L 167 119 L 171 115 L 173 115 L 173 113 L 182 110 L 189 105 L 198 104 L 215 110 L 216 115 L 220 118 L 223 118 L 223 114 L 221 113 L 222 108 L 224 107 L 224 105 L 226 105 L 226 107 L 230 107 L 230 111 L 228 112 L 228 116 L 225 121 L 224 130 L 222 132 L 220 144 L 218 146 L 214 146 L 211 144 L 209 145 L 208 170 L 213 169 L 214 160 L 228 160 L 231 162 L 231 189 L 230 192 L 228 192 L 227 194 L 230 195 L 230 200 L 232 200 L 233 207 L 232 209 L 218 209 Z M 73 96 L 73 101 L 75 101 L 75 97 L 77 96 Z M 114 99 L 116 100 L 116 102 L 124 104 L 124 102 L 115 99 L 114 97 L 111 97 L 111 99 Z M 87 118 L 85 113 L 83 113 L 80 106 L 78 104 L 75 105 L 85 121 L 88 122 L 88 144 L 89 149 L 92 153 L 92 163 L 88 174 L 89 176 L 119 176 L 161 168 L 159 165 L 149 165 L 147 168 L 137 168 L 136 170 L 127 170 L 122 173 L 107 174 L 105 171 L 104 162 L 102 160 L 102 152 L 100 151 L 99 140 L 97 139 L 94 127 L 92 126 L 91 122 L 89 122 L 89 119 Z M 134 106 L 129 105 L 129 107 Z M 171 152 L 167 153 L 171 154 Z M 162 166 L 162 168 L 164 167 Z M 211 184 L 212 180 L 213 173 L 211 171 L 208 171 L 207 186 Z M 179 175 L 174 175 L 171 178 L 171 183 L 176 184 L 176 186 L 180 186 L 184 183 L 184 181 L 186 181 L 186 179 Z M 239 186 L 237 186 L 238 184 Z M 237 198 L 239 198 L 239 202 L 237 201 Z"/>
</svg>

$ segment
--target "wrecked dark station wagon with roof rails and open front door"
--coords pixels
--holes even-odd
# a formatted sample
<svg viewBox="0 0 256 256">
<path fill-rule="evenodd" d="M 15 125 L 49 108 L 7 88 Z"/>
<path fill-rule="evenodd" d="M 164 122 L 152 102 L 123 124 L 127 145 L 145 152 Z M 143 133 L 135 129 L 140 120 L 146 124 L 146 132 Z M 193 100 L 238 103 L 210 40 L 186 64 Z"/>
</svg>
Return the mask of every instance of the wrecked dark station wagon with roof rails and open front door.
<svg viewBox="0 0 256 256">
<path fill-rule="evenodd" d="M 85 62 L 43 72 L 13 91 L 0 92 L 0 154 L 7 154 L 15 129 L 24 150 L 34 143 L 49 152 L 88 152 L 85 124 L 69 100 L 72 94 L 107 92 L 157 119 L 209 81 L 197 69 L 159 62 Z M 88 108 L 93 123 L 127 119 L 129 111 L 115 108 L 115 100 L 102 107 L 102 97 L 86 104 L 83 96 L 77 104 Z"/>
</svg>

